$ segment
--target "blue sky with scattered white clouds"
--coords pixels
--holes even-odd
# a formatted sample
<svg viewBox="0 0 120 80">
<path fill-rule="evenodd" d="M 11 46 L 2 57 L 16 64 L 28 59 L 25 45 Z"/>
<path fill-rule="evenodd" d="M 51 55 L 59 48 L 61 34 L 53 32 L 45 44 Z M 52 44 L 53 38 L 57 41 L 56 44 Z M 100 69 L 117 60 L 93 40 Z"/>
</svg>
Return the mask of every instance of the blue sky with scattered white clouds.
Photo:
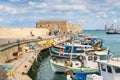
<svg viewBox="0 0 120 80">
<path fill-rule="evenodd" d="M 68 20 L 86 29 L 120 27 L 120 0 L 0 0 L 0 27 L 36 27 L 40 20 Z"/>
</svg>

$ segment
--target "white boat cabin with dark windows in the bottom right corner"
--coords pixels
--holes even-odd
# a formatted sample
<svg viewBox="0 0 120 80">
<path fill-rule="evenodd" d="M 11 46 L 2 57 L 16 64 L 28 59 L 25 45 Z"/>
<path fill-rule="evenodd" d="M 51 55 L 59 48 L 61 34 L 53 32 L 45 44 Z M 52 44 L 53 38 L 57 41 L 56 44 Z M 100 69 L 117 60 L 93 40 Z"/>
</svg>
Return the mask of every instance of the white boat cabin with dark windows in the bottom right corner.
<svg viewBox="0 0 120 80">
<path fill-rule="evenodd" d="M 120 59 L 100 60 L 98 66 L 103 80 L 120 80 Z"/>
</svg>

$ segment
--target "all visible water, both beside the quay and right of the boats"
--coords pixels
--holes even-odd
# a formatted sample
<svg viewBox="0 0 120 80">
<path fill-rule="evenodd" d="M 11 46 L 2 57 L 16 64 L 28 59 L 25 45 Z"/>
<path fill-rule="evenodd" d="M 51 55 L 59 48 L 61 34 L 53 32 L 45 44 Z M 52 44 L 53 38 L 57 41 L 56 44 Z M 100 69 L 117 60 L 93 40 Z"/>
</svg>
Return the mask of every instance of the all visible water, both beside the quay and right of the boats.
<svg viewBox="0 0 120 80">
<path fill-rule="evenodd" d="M 94 36 L 98 36 L 104 40 L 103 46 L 109 46 L 110 52 L 114 57 L 120 57 L 120 34 L 106 34 L 104 30 L 85 30 L 83 33 L 90 33 Z M 37 69 L 34 80 L 66 80 L 65 75 L 61 73 L 54 73 L 50 67 L 49 50 L 41 53 L 41 63 Z M 35 75 L 35 74 L 33 74 Z"/>
</svg>

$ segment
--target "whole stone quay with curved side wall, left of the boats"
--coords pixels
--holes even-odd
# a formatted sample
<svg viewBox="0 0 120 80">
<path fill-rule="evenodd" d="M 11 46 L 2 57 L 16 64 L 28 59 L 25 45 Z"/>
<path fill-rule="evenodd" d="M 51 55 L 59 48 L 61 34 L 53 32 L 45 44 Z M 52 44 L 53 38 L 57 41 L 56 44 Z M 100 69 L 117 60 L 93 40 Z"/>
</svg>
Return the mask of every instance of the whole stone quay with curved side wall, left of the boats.
<svg viewBox="0 0 120 80">
<path fill-rule="evenodd" d="M 0 63 L 13 67 L 11 73 L 8 75 L 8 79 L 31 80 L 26 74 L 39 56 L 41 50 L 49 48 L 51 46 L 50 42 L 58 44 L 69 39 L 70 37 L 68 36 L 48 36 L 42 39 L 17 40 L 10 44 L 1 45 Z M 35 50 L 29 49 L 27 46 L 29 43 L 34 44 Z M 19 53 L 17 57 L 13 56 L 13 53 L 16 52 Z"/>
</svg>

